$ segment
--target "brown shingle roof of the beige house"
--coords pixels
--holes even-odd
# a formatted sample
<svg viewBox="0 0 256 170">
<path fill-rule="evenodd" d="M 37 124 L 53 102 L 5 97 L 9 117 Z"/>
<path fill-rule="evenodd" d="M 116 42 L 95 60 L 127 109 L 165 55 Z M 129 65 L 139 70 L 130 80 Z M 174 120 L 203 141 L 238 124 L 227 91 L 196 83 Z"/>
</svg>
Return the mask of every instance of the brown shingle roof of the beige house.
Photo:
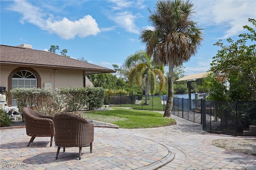
<svg viewBox="0 0 256 170">
<path fill-rule="evenodd" d="M 90 73 L 115 73 L 116 71 L 62 55 L 30 48 L 0 45 L 0 65 L 69 69 Z"/>
</svg>

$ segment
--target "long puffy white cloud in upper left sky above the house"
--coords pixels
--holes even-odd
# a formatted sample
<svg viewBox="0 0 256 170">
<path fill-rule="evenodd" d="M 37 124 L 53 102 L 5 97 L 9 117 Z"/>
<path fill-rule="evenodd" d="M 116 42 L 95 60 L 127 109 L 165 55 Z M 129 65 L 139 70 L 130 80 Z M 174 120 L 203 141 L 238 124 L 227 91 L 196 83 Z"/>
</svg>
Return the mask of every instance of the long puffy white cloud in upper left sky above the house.
<svg viewBox="0 0 256 170">
<path fill-rule="evenodd" d="M 41 13 L 38 7 L 26 1 L 15 1 L 14 6 L 12 6 L 10 10 L 22 14 L 20 20 L 22 24 L 24 24 L 25 21 L 30 22 L 42 30 L 57 34 L 66 40 L 73 39 L 75 36 L 84 38 L 90 35 L 97 35 L 100 32 L 96 20 L 90 15 L 86 15 L 76 21 L 70 21 L 67 18 L 54 20 L 52 14 L 48 14 L 50 17 L 44 19 L 46 14 Z"/>
</svg>

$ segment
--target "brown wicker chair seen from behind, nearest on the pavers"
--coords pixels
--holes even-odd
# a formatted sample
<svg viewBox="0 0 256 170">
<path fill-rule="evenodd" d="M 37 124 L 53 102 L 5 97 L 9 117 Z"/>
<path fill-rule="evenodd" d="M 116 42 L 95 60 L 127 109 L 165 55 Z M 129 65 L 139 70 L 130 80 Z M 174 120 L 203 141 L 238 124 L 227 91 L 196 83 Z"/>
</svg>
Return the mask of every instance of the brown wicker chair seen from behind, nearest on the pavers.
<svg viewBox="0 0 256 170">
<path fill-rule="evenodd" d="M 90 144 L 92 153 L 92 142 L 94 140 L 94 125 L 88 123 L 86 119 L 74 113 L 59 113 L 53 118 L 55 126 L 55 145 L 58 146 L 56 159 L 63 147 L 79 147 L 79 160 L 82 156 L 82 146 Z"/>
</svg>

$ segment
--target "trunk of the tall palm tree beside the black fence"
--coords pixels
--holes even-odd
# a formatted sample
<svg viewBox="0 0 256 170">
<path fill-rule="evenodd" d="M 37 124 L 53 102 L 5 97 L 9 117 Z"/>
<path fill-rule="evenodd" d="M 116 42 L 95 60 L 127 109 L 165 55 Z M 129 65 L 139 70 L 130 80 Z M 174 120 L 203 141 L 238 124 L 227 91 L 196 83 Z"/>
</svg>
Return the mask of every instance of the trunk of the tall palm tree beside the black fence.
<svg viewBox="0 0 256 170">
<path fill-rule="evenodd" d="M 173 101 L 173 61 L 169 60 L 169 74 L 168 74 L 168 97 L 164 117 L 171 117 L 172 101 Z"/>
</svg>

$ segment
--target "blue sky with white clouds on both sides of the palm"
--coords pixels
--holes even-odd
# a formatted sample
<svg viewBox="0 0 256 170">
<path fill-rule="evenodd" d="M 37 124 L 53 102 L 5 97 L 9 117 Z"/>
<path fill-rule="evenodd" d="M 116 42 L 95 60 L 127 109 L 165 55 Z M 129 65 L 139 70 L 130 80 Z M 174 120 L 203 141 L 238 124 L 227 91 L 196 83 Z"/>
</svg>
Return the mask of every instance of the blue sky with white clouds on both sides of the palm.
<svg viewBox="0 0 256 170">
<path fill-rule="evenodd" d="M 113 69 L 126 57 L 145 49 L 139 40 L 142 29 L 150 28 L 148 8 L 155 0 L 30 0 L 0 1 L 0 43 L 30 44 L 48 50 L 58 45 L 70 57 L 84 57 L 89 63 Z M 210 68 L 222 39 L 236 40 L 256 19 L 255 0 L 194 0 L 194 21 L 203 28 L 204 41 L 195 56 L 184 63 L 185 75 Z M 151 27 L 152 28 L 152 27 Z M 59 53 L 60 53 L 59 51 Z"/>
</svg>

